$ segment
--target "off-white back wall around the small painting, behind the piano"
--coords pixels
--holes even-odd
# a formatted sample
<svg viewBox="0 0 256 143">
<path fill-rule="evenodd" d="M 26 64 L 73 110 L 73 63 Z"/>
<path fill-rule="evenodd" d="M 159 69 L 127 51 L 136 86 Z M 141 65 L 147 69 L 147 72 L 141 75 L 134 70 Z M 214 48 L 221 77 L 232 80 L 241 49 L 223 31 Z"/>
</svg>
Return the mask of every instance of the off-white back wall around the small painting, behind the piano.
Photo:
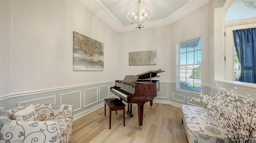
<svg viewBox="0 0 256 143">
<path fill-rule="evenodd" d="M 123 79 L 125 75 L 162 69 L 165 72 L 159 73 L 161 77 L 156 80 L 170 81 L 173 71 L 170 65 L 171 33 L 171 25 L 119 33 L 118 61 L 122 69 L 119 70 L 119 79 Z M 129 66 L 129 52 L 150 50 L 156 50 L 156 65 Z"/>
</svg>

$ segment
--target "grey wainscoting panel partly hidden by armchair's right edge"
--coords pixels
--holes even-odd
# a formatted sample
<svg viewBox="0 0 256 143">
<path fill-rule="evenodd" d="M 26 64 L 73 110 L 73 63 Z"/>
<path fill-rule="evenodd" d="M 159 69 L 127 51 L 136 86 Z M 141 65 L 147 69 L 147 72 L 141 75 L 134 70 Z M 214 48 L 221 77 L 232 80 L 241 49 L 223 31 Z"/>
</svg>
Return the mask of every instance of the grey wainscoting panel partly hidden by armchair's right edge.
<svg viewBox="0 0 256 143">
<path fill-rule="evenodd" d="M 82 90 L 60 94 L 60 104 L 72 104 L 74 111 L 82 109 Z"/>
</svg>

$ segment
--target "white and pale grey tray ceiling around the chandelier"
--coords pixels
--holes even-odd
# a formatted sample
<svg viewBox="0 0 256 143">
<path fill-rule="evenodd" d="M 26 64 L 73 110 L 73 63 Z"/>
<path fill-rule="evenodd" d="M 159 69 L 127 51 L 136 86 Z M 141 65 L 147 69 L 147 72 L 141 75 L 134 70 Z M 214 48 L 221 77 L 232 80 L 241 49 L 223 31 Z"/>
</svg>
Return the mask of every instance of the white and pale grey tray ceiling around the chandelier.
<svg viewBox="0 0 256 143">
<path fill-rule="evenodd" d="M 79 0 L 86 8 L 110 25 L 117 32 L 138 30 L 130 24 L 127 14 L 138 0 Z M 218 0 L 222 6 L 226 0 Z M 144 28 L 172 24 L 209 0 L 141 0 L 153 12 Z"/>
</svg>

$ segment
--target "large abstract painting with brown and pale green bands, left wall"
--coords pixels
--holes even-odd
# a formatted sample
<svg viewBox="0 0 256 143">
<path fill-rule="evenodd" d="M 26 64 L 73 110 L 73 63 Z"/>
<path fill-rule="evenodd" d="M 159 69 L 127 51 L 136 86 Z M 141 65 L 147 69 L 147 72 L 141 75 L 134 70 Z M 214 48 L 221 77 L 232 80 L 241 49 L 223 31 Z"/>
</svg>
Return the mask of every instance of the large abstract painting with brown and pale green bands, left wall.
<svg viewBox="0 0 256 143">
<path fill-rule="evenodd" d="M 103 71 L 104 43 L 73 32 L 73 70 Z"/>
</svg>

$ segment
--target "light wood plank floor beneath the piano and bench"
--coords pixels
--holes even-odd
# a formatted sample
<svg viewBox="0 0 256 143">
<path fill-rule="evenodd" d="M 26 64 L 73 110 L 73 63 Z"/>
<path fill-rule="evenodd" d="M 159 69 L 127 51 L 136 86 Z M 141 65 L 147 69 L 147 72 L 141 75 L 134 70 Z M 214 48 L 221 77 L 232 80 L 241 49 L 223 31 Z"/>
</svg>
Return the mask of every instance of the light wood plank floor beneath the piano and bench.
<svg viewBox="0 0 256 143">
<path fill-rule="evenodd" d="M 169 104 L 149 102 L 144 105 L 143 130 L 138 128 L 138 109 L 133 104 L 134 117 L 125 119 L 122 110 L 112 112 L 109 129 L 109 109 L 104 106 L 73 122 L 73 133 L 68 143 L 188 143 L 180 108 Z M 127 110 L 127 106 L 126 106 Z"/>
</svg>

